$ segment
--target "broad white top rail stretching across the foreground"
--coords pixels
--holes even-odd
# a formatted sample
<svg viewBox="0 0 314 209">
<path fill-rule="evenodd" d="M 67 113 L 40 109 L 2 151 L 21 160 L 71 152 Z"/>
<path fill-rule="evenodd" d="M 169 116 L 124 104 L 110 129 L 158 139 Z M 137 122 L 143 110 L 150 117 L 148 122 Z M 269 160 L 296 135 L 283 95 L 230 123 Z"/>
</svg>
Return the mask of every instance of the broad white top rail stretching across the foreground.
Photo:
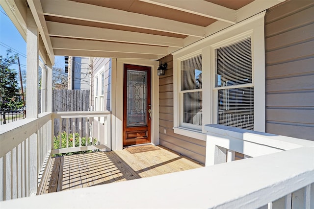
<svg viewBox="0 0 314 209">
<path fill-rule="evenodd" d="M 105 196 L 107 208 L 259 208 L 314 182 L 313 152 L 313 147 L 301 147 L 214 167 L 5 201 L 1 206 L 101 208 L 103 203 L 86 199 Z M 162 201 L 152 205 L 138 195 L 147 191 Z M 122 195 L 128 201 L 120 201 Z"/>
</svg>

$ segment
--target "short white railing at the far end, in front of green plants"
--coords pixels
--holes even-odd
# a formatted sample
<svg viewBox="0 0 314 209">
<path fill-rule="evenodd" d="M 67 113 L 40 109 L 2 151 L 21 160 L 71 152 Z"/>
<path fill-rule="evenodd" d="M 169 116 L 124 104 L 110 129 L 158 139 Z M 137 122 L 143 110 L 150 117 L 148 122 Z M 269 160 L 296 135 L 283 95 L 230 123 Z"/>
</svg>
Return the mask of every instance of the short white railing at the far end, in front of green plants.
<svg viewBox="0 0 314 209">
<path fill-rule="evenodd" d="M 111 150 L 111 113 L 56 112 L 52 121 L 58 120 L 58 135 L 52 136 L 52 154 L 87 150 Z M 54 123 L 52 124 L 54 130 Z"/>
</svg>

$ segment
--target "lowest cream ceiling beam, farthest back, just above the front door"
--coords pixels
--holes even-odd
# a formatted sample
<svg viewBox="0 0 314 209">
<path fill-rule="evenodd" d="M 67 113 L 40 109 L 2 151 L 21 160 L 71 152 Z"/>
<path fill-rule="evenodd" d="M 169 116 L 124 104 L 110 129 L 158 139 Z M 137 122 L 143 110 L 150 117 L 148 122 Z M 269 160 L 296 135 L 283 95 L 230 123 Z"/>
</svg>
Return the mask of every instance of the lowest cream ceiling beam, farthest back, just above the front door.
<svg viewBox="0 0 314 209">
<path fill-rule="evenodd" d="M 156 54 L 136 54 L 136 53 L 120 53 L 107 51 L 82 51 L 82 50 L 67 50 L 53 49 L 54 54 L 58 56 L 79 56 L 79 57 L 108 57 L 108 58 L 131 58 L 131 59 L 150 59 L 158 60 L 163 55 Z"/>
</svg>

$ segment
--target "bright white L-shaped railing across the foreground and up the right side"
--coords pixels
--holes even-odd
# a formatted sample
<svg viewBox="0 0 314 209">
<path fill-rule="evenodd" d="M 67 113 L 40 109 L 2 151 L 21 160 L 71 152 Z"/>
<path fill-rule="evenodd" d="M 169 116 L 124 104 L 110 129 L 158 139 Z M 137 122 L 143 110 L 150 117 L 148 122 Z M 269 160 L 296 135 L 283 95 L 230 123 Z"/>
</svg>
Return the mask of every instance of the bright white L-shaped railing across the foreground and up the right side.
<svg viewBox="0 0 314 209">
<path fill-rule="evenodd" d="M 215 165 L 4 201 L 1 208 L 102 208 L 102 201 L 86 199 L 104 197 L 106 208 L 314 208 L 313 141 L 221 125 L 206 129 L 207 165 Z M 253 158 L 223 163 L 232 161 L 233 151 Z M 147 193 L 157 201 L 139 195 Z"/>
</svg>

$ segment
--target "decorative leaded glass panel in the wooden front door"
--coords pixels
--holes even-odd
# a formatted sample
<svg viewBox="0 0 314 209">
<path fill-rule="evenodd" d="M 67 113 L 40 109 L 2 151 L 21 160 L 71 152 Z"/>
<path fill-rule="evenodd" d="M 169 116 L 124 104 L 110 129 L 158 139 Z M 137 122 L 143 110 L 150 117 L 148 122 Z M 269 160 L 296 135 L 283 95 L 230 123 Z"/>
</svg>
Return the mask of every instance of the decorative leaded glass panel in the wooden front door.
<svg viewBox="0 0 314 209">
<path fill-rule="evenodd" d="M 127 70 L 127 127 L 147 125 L 147 72 Z"/>
</svg>

